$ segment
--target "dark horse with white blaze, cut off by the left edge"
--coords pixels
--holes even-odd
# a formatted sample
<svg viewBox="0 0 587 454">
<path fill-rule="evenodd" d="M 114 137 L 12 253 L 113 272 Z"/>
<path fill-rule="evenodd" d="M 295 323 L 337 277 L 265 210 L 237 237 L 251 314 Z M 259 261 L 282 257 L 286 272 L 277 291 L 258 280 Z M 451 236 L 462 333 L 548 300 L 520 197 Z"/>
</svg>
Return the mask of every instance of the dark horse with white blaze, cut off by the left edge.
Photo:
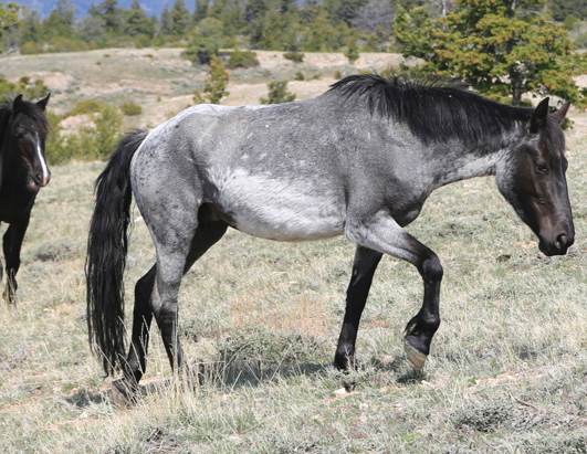
<svg viewBox="0 0 587 454">
<path fill-rule="evenodd" d="M 7 268 L 3 295 L 11 304 L 15 303 L 20 250 L 34 200 L 51 179 L 45 160 L 49 97 L 31 103 L 19 95 L 0 105 L 0 222 L 9 224 L 2 241 Z"/>
</svg>

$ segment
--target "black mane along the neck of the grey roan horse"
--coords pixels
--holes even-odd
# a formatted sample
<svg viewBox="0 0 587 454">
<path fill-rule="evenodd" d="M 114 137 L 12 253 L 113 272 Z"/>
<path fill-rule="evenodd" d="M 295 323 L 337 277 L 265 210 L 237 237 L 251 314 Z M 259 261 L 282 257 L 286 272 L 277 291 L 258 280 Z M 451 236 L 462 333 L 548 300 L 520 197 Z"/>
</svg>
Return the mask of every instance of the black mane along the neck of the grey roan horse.
<svg viewBox="0 0 587 454">
<path fill-rule="evenodd" d="M 465 89 L 374 74 L 345 77 L 331 92 L 347 99 L 364 98 L 371 114 L 406 123 L 426 142 L 495 138 L 532 114 L 532 109 L 499 104 Z"/>
</svg>

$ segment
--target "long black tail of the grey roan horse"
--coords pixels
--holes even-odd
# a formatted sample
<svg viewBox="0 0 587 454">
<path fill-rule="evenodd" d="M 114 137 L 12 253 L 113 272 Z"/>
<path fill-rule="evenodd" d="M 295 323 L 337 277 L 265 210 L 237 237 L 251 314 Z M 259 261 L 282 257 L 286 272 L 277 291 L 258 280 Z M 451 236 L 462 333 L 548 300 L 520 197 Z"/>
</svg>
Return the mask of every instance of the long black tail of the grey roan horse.
<svg viewBox="0 0 587 454">
<path fill-rule="evenodd" d="M 96 180 L 96 207 L 90 224 L 85 276 L 90 348 L 102 357 L 106 374 L 125 355 L 124 283 L 130 222 L 130 160 L 146 131 L 125 136 Z"/>
</svg>

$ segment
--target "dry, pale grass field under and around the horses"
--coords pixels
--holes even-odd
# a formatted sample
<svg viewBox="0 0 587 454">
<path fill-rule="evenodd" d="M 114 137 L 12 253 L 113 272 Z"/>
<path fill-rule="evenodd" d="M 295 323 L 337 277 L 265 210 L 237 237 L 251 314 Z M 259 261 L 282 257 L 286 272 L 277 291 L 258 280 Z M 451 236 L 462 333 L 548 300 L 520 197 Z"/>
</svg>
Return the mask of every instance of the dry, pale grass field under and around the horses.
<svg viewBox="0 0 587 454">
<path fill-rule="evenodd" d="M 80 87 L 93 75 L 84 77 L 72 75 Z M 111 399 L 86 342 L 85 241 L 103 163 L 53 167 L 24 243 L 19 305 L 0 307 L 2 451 L 585 453 L 587 116 L 572 117 L 568 256 L 542 256 L 491 179 L 439 190 L 409 228 L 446 271 L 443 321 L 422 376 L 401 347 L 421 300 L 411 266 L 382 261 L 359 332 L 361 367 L 344 377 L 329 362 L 353 246 L 230 231 L 180 294 L 186 356 L 203 383 L 170 380 L 155 328 L 144 395 L 129 408 Z M 153 256 L 135 213 L 128 295 Z"/>
</svg>

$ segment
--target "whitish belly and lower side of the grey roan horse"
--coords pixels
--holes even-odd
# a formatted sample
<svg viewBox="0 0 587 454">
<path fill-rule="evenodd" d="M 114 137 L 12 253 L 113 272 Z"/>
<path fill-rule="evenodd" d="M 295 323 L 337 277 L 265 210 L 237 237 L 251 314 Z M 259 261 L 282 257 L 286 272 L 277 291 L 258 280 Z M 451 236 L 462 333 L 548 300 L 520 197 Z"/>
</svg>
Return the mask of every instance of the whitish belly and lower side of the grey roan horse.
<svg viewBox="0 0 587 454">
<path fill-rule="evenodd" d="M 276 180 L 235 170 L 216 182 L 216 204 L 241 232 L 277 241 L 336 236 L 344 199 L 312 181 Z"/>
</svg>

